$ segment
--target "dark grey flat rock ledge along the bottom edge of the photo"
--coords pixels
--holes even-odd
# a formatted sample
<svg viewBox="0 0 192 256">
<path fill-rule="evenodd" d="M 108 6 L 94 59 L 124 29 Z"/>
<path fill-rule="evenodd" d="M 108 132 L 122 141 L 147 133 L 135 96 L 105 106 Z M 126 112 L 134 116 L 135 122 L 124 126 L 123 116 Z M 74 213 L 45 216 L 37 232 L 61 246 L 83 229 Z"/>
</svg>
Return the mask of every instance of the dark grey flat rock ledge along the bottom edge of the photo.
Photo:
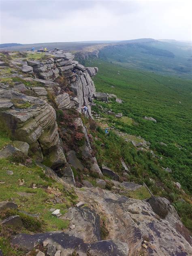
<svg viewBox="0 0 192 256">
<path fill-rule="evenodd" d="M 127 244 L 118 240 L 84 243 L 83 239 L 77 237 L 77 235 L 56 231 L 35 235 L 16 235 L 12 239 L 12 244 L 18 244 L 23 248 L 32 250 L 35 243 L 42 243 L 45 240 L 54 243 L 56 249 L 61 251 L 61 256 L 70 256 L 73 253 L 79 254 L 79 256 L 87 256 L 87 254 L 90 256 L 127 256 L 129 252 Z"/>
</svg>

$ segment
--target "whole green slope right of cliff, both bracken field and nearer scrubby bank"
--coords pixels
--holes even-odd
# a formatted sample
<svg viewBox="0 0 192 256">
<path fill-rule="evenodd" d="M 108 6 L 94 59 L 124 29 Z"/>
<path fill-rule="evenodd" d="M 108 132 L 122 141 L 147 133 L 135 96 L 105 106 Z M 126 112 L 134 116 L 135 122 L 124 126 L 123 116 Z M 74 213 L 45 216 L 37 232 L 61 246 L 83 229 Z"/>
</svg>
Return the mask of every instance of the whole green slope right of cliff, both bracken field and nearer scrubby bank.
<svg viewBox="0 0 192 256">
<path fill-rule="evenodd" d="M 125 119 L 117 119 L 100 113 L 101 118 L 97 123 L 101 128 L 98 127 L 97 131 L 92 131 L 92 135 L 98 138 L 94 141 L 94 152 L 98 164 L 109 166 L 123 177 L 120 162 L 122 157 L 130 169 L 126 177 L 127 181 L 140 184 L 144 181 L 156 196 L 166 197 L 177 205 L 180 205 L 180 200 L 183 198 L 186 201 L 185 207 L 190 209 L 191 81 L 128 70 L 101 59 L 90 62 L 91 64 L 87 62 L 86 66 L 99 68 L 94 78 L 96 90 L 116 94 L 118 98 L 124 100 L 123 104 L 114 100 L 109 103 L 96 102 L 94 111 L 97 113 L 101 112 L 98 106 L 101 105 L 112 109 L 115 113 L 123 113 L 125 117 Z M 157 123 L 143 119 L 144 116 L 155 118 Z M 126 124 L 125 120 L 132 121 Z M 106 136 L 104 128 L 111 126 L 127 135 L 118 137 L 116 130 L 109 130 Z M 137 151 L 131 143 L 125 142 L 125 139 L 136 141 L 138 137 L 149 141 L 150 149 L 162 159 L 153 158 L 149 151 Z M 139 141 L 142 139 L 138 139 L 137 142 Z M 167 173 L 162 167 L 171 168 L 173 173 Z M 187 194 L 177 189 L 174 183 L 176 181 L 181 183 L 181 188 Z M 183 223 L 192 229 L 191 217 L 185 215 L 185 207 L 178 208 L 178 213 Z"/>
</svg>

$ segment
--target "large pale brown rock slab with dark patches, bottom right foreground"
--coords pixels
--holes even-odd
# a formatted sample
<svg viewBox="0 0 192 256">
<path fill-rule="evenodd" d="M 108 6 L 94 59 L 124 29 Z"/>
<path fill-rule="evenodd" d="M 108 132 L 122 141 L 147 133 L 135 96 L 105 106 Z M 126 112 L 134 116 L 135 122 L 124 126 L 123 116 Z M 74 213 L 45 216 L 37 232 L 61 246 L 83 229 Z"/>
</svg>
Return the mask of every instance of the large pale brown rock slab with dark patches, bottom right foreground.
<svg viewBox="0 0 192 256">
<path fill-rule="evenodd" d="M 188 255 L 192 247 L 184 235 L 167 219 L 160 219 L 145 201 L 119 196 L 100 188 L 85 188 L 79 198 L 102 212 L 109 231 L 107 239 L 128 245 L 128 255 L 140 255 L 143 240 L 149 241 L 146 255 Z M 170 212 L 170 219 L 174 215 Z M 183 227 L 183 226 L 182 226 Z M 180 228 L 181 230 L 181 228 Z"/>
</svg>

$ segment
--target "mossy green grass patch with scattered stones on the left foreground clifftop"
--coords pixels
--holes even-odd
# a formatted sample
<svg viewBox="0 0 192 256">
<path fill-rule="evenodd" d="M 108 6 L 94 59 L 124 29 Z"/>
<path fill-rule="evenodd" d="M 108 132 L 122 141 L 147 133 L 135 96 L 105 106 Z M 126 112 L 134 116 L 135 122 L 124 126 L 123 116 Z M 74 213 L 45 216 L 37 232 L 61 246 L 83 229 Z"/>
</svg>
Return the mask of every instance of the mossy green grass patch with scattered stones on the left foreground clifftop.
<svg viewBox="0 0 192 256">
<path fill-rule="evenodd" d="M 6 167 L 5 167 L 6 166 Z M 39 213 L 41 219 L 45 222 L 44 231 L 62 230 L 67 228 L 68 221 L 60 220 L 49 212 L 50 208 L 62 210 L 63 213 L 67 207 L 72 204 L 70 193 L 66 194 L 63 186 L 52 179 L 46 177 L 43 170 L 37 166 L 28 168 L 17 164 L 12 164 L 6 159 L 0 159 L 0 181 L 4 181 L 1 186 L 0 201 L 14 201 L 19 205 L 19 209 L 28 213 Z M 12 170 L 13 175 L 7 175 L 6 171 Z M 19 179 L 24 179 L 23 186 L 19 186 Z M 32 184 L 35 182 L 37 188 L 33 189 Z M 54 205 L 48 199 L 53 198 L 54 194 L 47 191 L 47 187 L 58 188 L 61 192 L 60 198 L 64 204 Z M 20 196 L 17 192 L 33 193 L 32 196 Z"/>
</svg>

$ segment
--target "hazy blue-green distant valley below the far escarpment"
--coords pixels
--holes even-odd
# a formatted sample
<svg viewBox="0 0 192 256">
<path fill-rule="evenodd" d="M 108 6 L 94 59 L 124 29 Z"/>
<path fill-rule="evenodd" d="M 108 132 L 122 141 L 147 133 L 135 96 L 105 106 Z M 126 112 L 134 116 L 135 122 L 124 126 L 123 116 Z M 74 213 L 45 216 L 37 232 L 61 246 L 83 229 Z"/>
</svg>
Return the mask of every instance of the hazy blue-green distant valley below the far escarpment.
<svg viewBox="0 0 192 256">
<path fill-rule="evenodd" d="M 180 43 L 180 44 L 178 44 Z M 117 44 L 99 52 L 102 60 L 125 68 L 149 70 L 161 75 L 192 77 L 190 43 L 153 41 Z"/>
</svg>

